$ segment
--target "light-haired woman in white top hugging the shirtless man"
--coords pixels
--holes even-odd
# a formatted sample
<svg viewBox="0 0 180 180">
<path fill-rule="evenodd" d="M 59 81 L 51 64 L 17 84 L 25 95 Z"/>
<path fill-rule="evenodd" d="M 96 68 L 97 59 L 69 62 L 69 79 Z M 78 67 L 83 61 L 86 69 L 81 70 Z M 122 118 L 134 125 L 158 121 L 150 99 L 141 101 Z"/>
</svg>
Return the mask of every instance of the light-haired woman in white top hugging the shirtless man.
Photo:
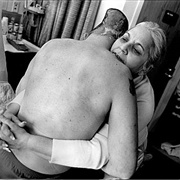
<svg viewBox="0 0 180 180">
<path fill-rule="evenodd" d="M 116 55 L 119 61 L 130 68 L 134 77 L 138 107 L 138 167 L 143 161 L 142 153 L 147 144 L 147 124 L 150 122 L 154 111 L 153 89 L 146 74 L 160 60 L 165 46 L 165 35 L 162 29 L 160 29 L 156 23 L 143 22 L 127 31 L 111 47 L 111 51 Z M 133 89 L 131 93 L 134 93 Z M 17 97 L 16 103 L 20 104 L 23 93 L 21 93 L 21 96 Z M 13 107 L 13 103 L 11 106 Z M 14 112 L 18 110 L 17 104 L 16 107 L 16 111 Z M 13 112 L 10 109 L 9 111 Z M 11 122 L 8 122 L 8 124 L 10 127 L 13 126 Z M 32 149 L 33 147 L 33 151 L 40 153 L 41 156 L 51 163 L 92 169 L 102 168 L 103 171 L 108 172 L 107 167 L 104 166 L 109 159 L 107 124 L 95 134 L 91 141 L 52 140 L 31 135 L 31 137 L 34 137 L 35 141 L 28 147 L 26 143 L 22 145 L 22 141 L 20 140 L 22 140 L 22 136 L 29 138 L 30 134 L 21 130 L 18 126 L 12 127 L 11 129 L 13 129 L 13 132 L 16 132 L 15 134 L 18 137 L 17 141 L 12 141 L 10 143 L 11 148 L 13 144 L 15 144 L 13 148 L 21 147 Z M 9 142 L 8 139 L 7 141 Z M 43 142 L 44 144 L 37 144 L 37 142 Z M 37 144 L 37 146 L 33 144 Z M 6 146 L 7 145 L 5 145 L 4 148 L 7 148 Z M 116 174 L 116 176 L 118 175 Z"/>
</svg>

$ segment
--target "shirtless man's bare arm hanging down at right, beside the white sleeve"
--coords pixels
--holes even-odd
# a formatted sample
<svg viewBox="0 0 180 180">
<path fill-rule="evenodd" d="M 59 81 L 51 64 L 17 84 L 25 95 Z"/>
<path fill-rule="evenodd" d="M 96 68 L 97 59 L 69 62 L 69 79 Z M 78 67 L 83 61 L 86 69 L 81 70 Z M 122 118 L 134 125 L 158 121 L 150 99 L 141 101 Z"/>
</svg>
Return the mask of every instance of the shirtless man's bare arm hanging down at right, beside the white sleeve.
<svg viewBox="0 0 180 180">
<path fill-rule="evenodd" d="M 130 178 L 135 171 L 138 132 L 135 90 L 130 73 L 125 74 L 115 88 L 109 117 L 109 161 L 103 168 L 108 175 L 122 179 Z"/>
</svg>

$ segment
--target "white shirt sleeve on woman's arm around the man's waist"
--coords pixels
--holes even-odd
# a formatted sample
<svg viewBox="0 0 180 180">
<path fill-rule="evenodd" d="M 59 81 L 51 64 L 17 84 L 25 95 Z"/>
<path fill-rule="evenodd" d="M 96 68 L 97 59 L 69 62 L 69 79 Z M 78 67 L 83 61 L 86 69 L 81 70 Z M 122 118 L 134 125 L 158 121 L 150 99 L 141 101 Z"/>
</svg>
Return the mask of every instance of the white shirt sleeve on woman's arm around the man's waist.
<svg viewBox="0 0 180 180">
<path fill-rule="evenodd" d="M 50 163 L 89 169 L 101 169 L 108 161 L 108 124 L 92 140 L 53 139 Z"/>
</svg>

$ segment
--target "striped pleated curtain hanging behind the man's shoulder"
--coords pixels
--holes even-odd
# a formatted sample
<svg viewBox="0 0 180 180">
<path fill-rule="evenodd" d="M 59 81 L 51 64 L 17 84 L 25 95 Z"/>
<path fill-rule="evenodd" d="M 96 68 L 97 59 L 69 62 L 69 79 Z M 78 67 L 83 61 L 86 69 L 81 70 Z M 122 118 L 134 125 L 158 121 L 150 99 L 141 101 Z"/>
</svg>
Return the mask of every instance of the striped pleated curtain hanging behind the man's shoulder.
<svg viewBox="0 0 180 180">
<path fill-rule="evenodd" d="M 50 39 L 81 39 L 92 30 L 101 0 L 50 0 L 38 46 Z"/>
</svg>

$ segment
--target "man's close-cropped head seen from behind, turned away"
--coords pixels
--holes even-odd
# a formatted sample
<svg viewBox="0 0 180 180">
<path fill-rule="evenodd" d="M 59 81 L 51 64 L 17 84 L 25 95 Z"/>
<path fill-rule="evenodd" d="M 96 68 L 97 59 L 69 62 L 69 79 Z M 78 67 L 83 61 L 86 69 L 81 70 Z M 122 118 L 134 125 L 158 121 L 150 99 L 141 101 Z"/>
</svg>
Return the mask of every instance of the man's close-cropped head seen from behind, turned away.
<svg viewBox="0 0 180 180">
<path fill-rule="evenodd" d="M 90 34 L 110 36 L 114 39 L 122 36 L 128 30 L 128 20 L 119 10 L 110 8 L 106 11 L 103 21 Z"/>
</svg>

